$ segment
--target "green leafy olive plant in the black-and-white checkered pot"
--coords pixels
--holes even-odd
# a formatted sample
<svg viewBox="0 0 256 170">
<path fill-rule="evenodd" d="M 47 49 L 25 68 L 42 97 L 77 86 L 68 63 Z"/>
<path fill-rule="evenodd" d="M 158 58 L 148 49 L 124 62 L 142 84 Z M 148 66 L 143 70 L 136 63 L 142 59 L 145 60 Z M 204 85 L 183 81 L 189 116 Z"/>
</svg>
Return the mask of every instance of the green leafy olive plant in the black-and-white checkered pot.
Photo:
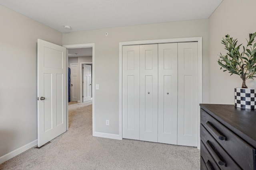
<svg viewBox="0 0 256 170">
<path fill-rule="evenodd" d="M 220 59 L 217 61 L 224 68 L 224 72 L 228 70 L 230 76 L 232 74 L 238 74 L 243 80 L 242 88 L 247 88 L 245 80 L 254 78 L 256 74 L 256 37 L 255 33 L 249 34 L 249 41 L 247 41 L 246 47 L 243 46 L 243 51 L 240 53 L 240 45 L 237 45 L 237 39 L 233 39 L 230 35 L 226 35 L 222 38 L 222 44 L 225 45 L 225 49 L 228 51 L 226 55 L 220 53 Z"/>
</svg>

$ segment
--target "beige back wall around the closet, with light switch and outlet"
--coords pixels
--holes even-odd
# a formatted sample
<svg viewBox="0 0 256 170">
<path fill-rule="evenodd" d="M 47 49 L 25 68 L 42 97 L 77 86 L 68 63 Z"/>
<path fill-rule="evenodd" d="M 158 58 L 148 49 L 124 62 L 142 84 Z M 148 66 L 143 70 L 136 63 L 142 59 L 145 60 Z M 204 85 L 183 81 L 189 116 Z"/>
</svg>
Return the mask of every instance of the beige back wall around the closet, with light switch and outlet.
<svg viewBox="0 0 256 170">
<path fill-rule="evenodd" d="M 108 36 L 104 33 L 108 32 Z M 63 45 L 95 43 L 95 131 L 118 134 L 119 42 L 203 38 L 203 101 L 208 102 L 208 20 L 136 25 L 63 33 Z M 95 86 L 94 84 L 94 86 Z M 106 126 L 106 119 L 110 125 Z"/>
</svg>

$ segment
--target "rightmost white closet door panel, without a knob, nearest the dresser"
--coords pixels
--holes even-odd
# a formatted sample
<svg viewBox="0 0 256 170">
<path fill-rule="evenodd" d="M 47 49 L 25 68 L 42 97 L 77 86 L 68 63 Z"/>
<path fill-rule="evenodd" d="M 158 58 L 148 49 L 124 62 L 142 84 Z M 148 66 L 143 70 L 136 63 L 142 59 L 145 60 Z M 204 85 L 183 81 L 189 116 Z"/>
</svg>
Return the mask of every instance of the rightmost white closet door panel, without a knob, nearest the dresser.
<svg viewBox="0 0 256 170">
<path fill-rule="evenodd" d="M 197 146 L 198 43 L 178 43 L 178 145 Z"/>
</svg>

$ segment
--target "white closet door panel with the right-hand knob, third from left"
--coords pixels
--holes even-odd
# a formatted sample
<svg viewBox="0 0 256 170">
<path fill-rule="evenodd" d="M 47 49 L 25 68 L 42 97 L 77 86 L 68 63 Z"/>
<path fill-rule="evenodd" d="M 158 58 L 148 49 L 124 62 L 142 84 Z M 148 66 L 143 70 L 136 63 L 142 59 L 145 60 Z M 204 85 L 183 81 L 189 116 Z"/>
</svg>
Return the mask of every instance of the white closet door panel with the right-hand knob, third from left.
<svg viewBox="0 0 256 170">
<path fill-rule="evenodd" d="M 177 43 L 158 44 L 158 142 L 177 145 Z"/>
</svg>

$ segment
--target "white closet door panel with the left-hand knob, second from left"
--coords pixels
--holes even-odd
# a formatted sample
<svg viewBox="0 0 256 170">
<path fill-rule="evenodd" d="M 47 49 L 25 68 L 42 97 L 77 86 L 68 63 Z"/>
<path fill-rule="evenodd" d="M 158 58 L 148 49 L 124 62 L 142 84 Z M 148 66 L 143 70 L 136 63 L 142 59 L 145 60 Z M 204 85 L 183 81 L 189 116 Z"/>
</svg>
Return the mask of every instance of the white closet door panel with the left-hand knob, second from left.
<svg viewBox="0 0 256 170">
<path fill-rule="evenodd" d="M 140 140 L 158 138 L 158 45 L 140 45 Z"/>
</svg>

